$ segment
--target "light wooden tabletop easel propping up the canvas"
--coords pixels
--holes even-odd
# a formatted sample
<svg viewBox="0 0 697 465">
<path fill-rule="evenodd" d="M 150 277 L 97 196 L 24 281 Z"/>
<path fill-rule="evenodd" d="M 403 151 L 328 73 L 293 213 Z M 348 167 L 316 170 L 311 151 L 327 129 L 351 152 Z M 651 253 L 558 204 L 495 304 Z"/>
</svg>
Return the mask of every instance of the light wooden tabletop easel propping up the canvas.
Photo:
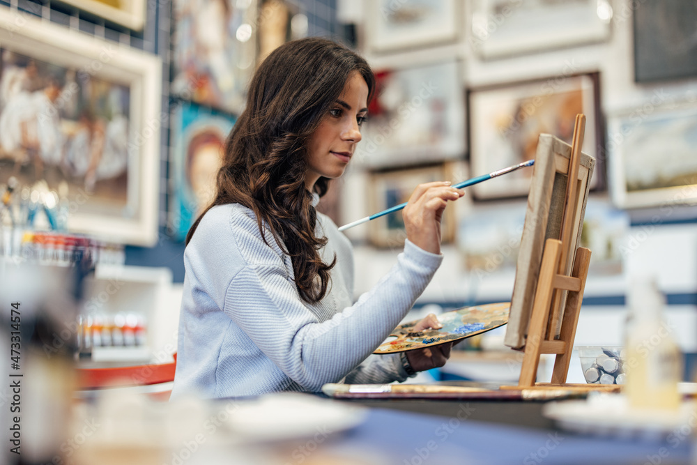
<svg viewBox="0 0 697 465">
<path fill-rule="evenodd" d="M 620 386 L 615 385 L 566 383 L 574 338 L 576 337 L 576 325 L 579 322 L 583 290 L 585 289 L 585 278 L 588 276 L 588 264 L 590 263 L 590 250 L 578 247 L 572 272 L 567 275 L 566 270 L 569 269 L 568 251 L 572 250 L 569 243 L 572 240 L 574 218 L 576 218 L 577 208 L 579 208 L 579 195 L 583 195 L 583 192 L 579 192 L 578 179 L 584 134 L 585 116 L 578 114 L 576 115 L 574 140 L 569 158 L 561 239 L 549 238 L 544 243 L 518 386 L 502 386 L 502 389 L 576 388 L 579 390 L 615 391 L 620 388 Z M 563 291 L 567 292 L 566 305 L 557 339 L 556 330 L 560 319 Z M 539 356 L 542 353 L 556 354 L 551 383 L 535 383 Z"/>
</svg>

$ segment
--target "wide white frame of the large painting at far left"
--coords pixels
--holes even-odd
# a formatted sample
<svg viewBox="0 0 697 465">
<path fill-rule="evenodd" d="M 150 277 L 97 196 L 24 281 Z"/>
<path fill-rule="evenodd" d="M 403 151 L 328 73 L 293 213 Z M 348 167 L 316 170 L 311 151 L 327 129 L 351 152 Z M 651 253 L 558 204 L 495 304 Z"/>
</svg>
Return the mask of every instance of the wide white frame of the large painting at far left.
<svg viewBox="0 0 697 465">
<path fill-rule="evenodd" d="M 62 105 L 67 105 L 65 102 L 71 93 L 82 96 L 80 92 L 87 80 L 94 83 L 91 88 L 98 83 L 127 89 L 128 101 L 123 105 L 123 116 L 128 125 L 121 139 L 121 142 L 127 140 L 127 153 L 123 155 L 125 174 L 118 203 L 115 204 L 108 193 L 100 193 L 98 188 L 92 193 L 81 189 L 82 179 L 73 182 L 75 176 L 66 175 L 61 179 L 62 167 L 57 163 L 52 168 L 54 179 L 47 180 L 48 187 L 58 190 L 58 181 L 72 182 L 67 197 L 70 204 L 68 231 L 114 243 L 154 245 L 158 240 L 160 127 L 169 117 L 161 109 L 160 58 L 8 8 L 0 8 L 0 50 L 44 63 L 54 73 L 66 78 L 66 83 L 70 84 L 63 84 L 61 94 L 54 102 L 58 114 L 64 111 Z M 61 100 L 63 98 L 66 100 Z M 68 129 L 75 125 L 76 121 L 61 119 L 59 128 L 67 134 Z M 18 158 L 5 160 L 17 167 L 24 166 L 22 160 L 17 161 Z M 7 182 L 9 175 L 0 172 L 0 183 Z M 26 179 L 24 183 L 35 181 Z M 95 185 L 98 186 L 99 182 Z"/>
</svg>

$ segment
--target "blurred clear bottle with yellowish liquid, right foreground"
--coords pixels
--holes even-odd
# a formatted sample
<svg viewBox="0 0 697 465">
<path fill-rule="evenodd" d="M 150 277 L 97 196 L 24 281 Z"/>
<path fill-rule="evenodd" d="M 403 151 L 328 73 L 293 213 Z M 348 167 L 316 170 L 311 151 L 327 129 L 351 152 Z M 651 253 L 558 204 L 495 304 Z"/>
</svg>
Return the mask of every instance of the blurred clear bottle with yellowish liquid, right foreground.
<svg viewBox="0 0 697 465">
<path fill-rule="evenodd" d="M 677 409 L 682 353 L 673 339 L 673 328 L 661 318 L 665 298 L 652 278 L 638 277 L 631 284 L 624 392 L 635 409 Z"/>
</svg>

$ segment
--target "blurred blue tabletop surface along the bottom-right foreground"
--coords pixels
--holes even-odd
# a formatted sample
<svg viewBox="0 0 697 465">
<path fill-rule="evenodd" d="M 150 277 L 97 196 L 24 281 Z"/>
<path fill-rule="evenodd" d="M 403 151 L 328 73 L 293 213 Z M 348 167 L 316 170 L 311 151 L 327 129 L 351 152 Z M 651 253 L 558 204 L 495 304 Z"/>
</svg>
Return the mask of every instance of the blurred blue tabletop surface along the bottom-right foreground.
<svg viewBox="0 0 697 465">
<path fill-rule="evenodd" d="M 452 417 L 369 409 L 362 425 L 325 444 L 380 464 L 689 464 L 690 437 L 675 441 L 583 436 L 560 430 L 468 420 L 468 404 Z M 694 432 L 693 432 L 694 433 Z M 682 440 L 677 441 L 681 438 Z"/>
</svg>

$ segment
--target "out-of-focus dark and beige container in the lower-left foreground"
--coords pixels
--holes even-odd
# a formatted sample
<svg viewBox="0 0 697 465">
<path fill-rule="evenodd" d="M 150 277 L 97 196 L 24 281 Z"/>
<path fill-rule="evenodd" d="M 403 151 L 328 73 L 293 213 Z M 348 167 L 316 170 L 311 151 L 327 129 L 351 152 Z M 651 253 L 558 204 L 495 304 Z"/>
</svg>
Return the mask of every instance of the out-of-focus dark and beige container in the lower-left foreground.
<svg viewBox="0 0 697 465">
<path fill-rule="evenodd" d="M 0 417 L 11 444 L 2 452 L 5 463 L 58 463 L 66 450 L 77 303 L 90 268 L 89 255 L 68 268 L 0 257 L 0 342 L 13 349 L 1 369 L 1 394 L 10 404 Z"/>
</svg>

